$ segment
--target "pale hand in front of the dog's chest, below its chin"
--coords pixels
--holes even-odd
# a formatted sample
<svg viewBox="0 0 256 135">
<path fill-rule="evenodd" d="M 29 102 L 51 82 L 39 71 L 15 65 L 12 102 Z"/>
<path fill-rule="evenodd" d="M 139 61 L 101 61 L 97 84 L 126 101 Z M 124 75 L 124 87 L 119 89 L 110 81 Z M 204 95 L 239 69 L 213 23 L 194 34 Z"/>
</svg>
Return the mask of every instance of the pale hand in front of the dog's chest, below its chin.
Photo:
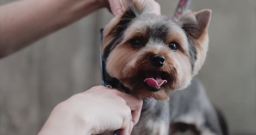
<svg viewBox="0 0 256 135">
<path fill-rule="evenodd" d="M 142 103 L 141 98 L 118 90 L 92 87 L 57 105 L 39 135 L 95 135 L 117 129 L 118 135 L 130 135 Z"/>
</svg>

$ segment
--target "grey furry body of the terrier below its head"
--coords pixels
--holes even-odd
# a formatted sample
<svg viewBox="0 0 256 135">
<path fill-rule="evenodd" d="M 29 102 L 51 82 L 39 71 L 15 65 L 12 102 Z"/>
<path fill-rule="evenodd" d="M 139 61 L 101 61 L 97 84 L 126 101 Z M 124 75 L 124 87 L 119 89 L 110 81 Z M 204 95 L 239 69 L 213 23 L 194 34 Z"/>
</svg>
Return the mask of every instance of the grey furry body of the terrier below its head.
<svg viewBox="0 0 256 135">
<path fill-rule="evenodd" d="M 146 105 L 145 105 L 146 104 Z M 176 90 L 170 100 L 144 100 L 141 117 L 131 135 L 223 135 L 217 113 L 197 79 L 184 90 Z"/>
</svg>

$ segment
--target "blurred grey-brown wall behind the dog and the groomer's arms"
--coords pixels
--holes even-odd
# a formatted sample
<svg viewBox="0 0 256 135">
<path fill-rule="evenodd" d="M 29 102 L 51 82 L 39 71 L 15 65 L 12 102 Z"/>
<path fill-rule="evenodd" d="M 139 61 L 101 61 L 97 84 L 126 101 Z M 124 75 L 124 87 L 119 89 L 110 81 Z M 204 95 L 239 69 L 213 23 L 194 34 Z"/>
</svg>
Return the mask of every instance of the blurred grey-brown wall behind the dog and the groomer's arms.
<svg viewBox="0 0 256 135">
<path fill-rule="evenodd" d="M 0 4 L 13 0 L 0 0 Z M 172 16 L 178 0 L 158 0 Z M 231 135 L 256 135 L 256 0 L 192 0 L 213 11 L 207 59 L 197 77 L 226 116 Z M 98 10 L 0 60 L 0 134 L 35 135 L 56 104 L 101 85 Z"/>
</svg>

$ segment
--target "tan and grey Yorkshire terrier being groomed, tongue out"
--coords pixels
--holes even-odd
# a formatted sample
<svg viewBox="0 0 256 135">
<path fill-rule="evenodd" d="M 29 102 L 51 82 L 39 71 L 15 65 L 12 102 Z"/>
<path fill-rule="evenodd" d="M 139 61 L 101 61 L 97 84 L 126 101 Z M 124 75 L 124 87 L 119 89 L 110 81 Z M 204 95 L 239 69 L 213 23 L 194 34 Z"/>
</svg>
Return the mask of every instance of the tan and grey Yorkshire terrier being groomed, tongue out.
<svg viewBox="0 0 256 135">
<path fill-rule="evenodd" d="M 143 98 L 131 135 L 226 135 L 223 116 L 194 77 L 206 58 L 211 10 L 174 19 L 156 12 L 150 0 L 121 5 L 122 14 L 104 28 L 102 58 L 118 88 Z"/>
</svg>

